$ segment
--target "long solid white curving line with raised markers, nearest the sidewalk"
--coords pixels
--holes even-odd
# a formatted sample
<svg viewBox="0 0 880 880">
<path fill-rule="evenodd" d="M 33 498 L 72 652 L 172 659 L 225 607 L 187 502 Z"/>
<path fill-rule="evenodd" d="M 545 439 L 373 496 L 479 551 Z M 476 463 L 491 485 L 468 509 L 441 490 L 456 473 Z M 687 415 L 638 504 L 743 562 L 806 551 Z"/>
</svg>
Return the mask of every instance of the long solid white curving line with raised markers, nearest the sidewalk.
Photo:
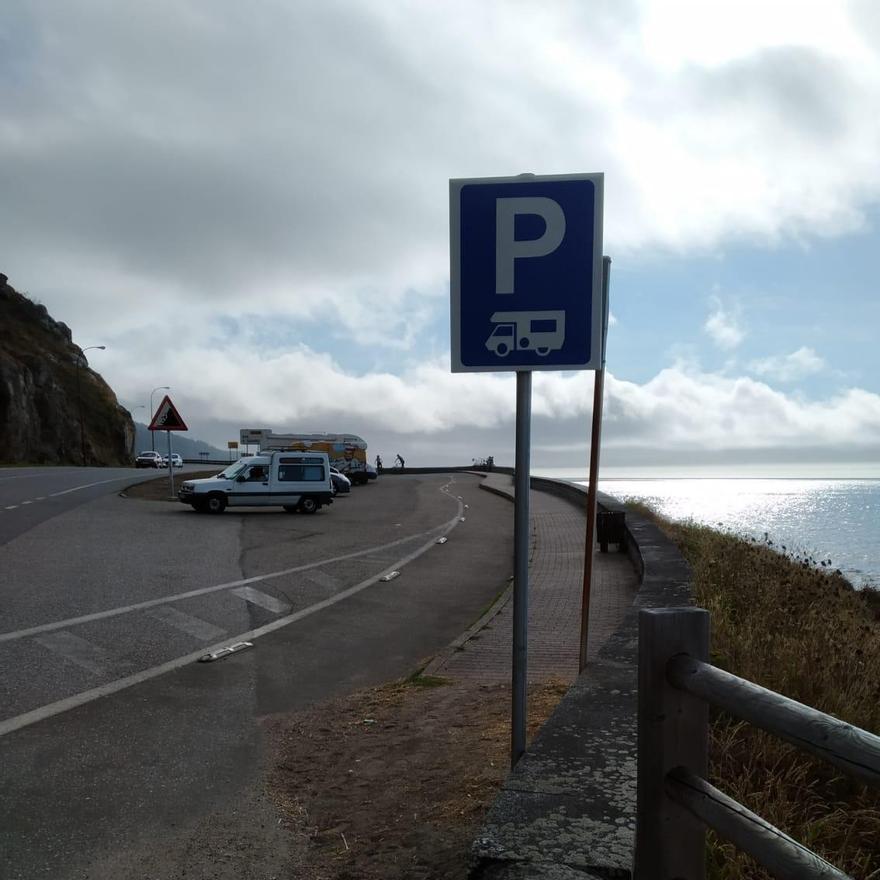
<svg viewBox="0 0 880 880">
<path fill-rule="evenodd" d="M 458 525 L 458 517 L 460 516 L 460 514 L 461 502 L 459 502 L 458 504 L 458 513 L 451 520 L 449 520 L 449 522 L 441 527 L 444 530 L 444 534 L 448 534 Z M 431 531 L 437 531 L 437 529 L 431 529 Z M 431 538 L 429 541 L 416 548 L 412 553 L 409 553 L 402 559 L 400 559 L 395 564 L 394 568 L 403 568 L 403 566 L 412 562 L 414 559 L 417 559 L 425 551 L 430 550 L 433 546 L 435 546 L 434 538 Z M 325 608 L 329 608 L 331 605 L 335 605 L 337 602 L 342 602 L 343 600 L 348 599 L 357 593 L 360 593 L 362 590 L 367 589 L 367 587 L 371 587 L 373 584 L 378 583 L 379 579 L 384 574 L 388 574 L 388 572 L 383 571 L 380 574 L 373 575 L 372 577 L 367 578 L 365 581 L 361 581 L 359 584 L 355 584 L 353 587 L 349 587 L 347 590 L 343 590 L 340 593 L 336 593 L 336 595 L 334 596 L 330 596 L 330 598 L 328 599 L 324 599 L 321 602 L 316 602 L 314 605 L 310 605 L 308 608 L 303 608 L 302 611 L 297 611 L 293 614 L 289 614 L 287 615 L 287 617 L 279 617 L 278 620 L 273 620 L 271 623 L 267 623 L 265 626 L 261 626 L 258 629 L 252 629 L 246 633 L 240 633 L 237 636 L 233 636 L 232 640 L 250 642 L 254 639 L 260 638 L 260 636 L 268 635 L 269 633 L 274 632 L 276 629 L 281 629 L 282 627 L 288 626 L 291 623 L 296 623 L 296 621 L 298 620 L 302 620 L 305 617 L 316 614 L 318 611 L 323 611 Z M 28 727 L 31 724 L 36 724 L 38 721 L 43 721 L 46 718 L 51 718 L 53 715 L 60 715 L 62 712 L 67 712 L 70 709 L 77 708 L 77 706 L 82 706 L 85 703 L 91 703 L 92 701 L 98 700 L 101 697 L 106 697 L 110 694 L 118 693 L 119 691 L 133 687 L 136 684 L 141 684 L 144 681 L 149 681 L 152 678 L 158 678 L 160 675 L 164 675 L 166 672 L 172 672 L 175 669 L 180 669 L 181 666 L 186 666 L 187 664 L 192 663 L 194 660 L 198 660 L 199 657 L 204 656 L 206 653 L 217 651 L 220 648 L 226 647 L 229 642 L 230 639 L 226 639 L 222 642 L 218 642 L 215 645 L 210 645 L 207 648 L 200 648 L 198 651 L 193 651 L 191 654 L 187 654 L 184 657 L 177 657 L 174 660 L 169 660 L 167 663 L 162 663 L 160 666 L 154 666 L 151 669 L 144 669 L 141 672 L 136 672 L 133 675 L 126 676 L 125 678 L 120 678 L 116 681 L 108 682 L 107 684 L 101 685 L 100 687 L 92 688 L 88 691 L 82 691 L 79 694 L 74 694 L 72 697 L 66 697 L 65 699 L 58 700 L 55 703 L 49 703 L 46 706 L 40 706 L 39 709 L 32 709 L 30 712 L 25 712 L 22 715 L 16 715 L 13 718 L 7 718 L 5 721 L 0 721 L 0 736 L 6 736 L 6 734 L 8 733 L 12 733 L 16 730 L 21 730 L 21 728 Z"/>
</svg>

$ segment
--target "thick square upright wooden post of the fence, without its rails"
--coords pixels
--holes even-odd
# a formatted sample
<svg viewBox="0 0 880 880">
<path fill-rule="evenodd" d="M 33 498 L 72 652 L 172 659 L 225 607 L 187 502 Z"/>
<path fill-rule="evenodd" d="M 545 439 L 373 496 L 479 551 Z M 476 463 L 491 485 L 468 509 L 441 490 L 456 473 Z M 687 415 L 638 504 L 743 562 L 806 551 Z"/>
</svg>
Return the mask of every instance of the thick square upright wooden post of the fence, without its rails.
<svg viewBox="0 0 880 880">
<path fill-rule="evenodd" d="M 674 688 L 666 664 L 677 654 L 709 659 L 709 612 L 639 612 L 638 788 L 635 880 L 704 880 L 705 827 L 666 794 L 666 774 L 683 767 L 705 778 L 709 707 Z"/>
</svg>

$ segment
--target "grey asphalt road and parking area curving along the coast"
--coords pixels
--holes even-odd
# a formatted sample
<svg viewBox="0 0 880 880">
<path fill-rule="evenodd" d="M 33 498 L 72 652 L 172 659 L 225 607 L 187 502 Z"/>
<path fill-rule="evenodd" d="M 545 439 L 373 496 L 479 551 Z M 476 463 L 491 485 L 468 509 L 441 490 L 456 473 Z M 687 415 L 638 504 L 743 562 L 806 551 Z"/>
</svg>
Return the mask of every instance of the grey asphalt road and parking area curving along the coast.
<svg viewBox="0 0 880 880">
<path fill-rule="evenodd" d="M 511 574 L 512 507 L 466 475 L 380 478 L 314 516 L 210 517 L 89 482 L 42 484 L 23 507 L 68 506 L 0 546 L 0 876 L 225 877 L 230 840 L 269 876 L 285 841 L 260 719 L 447 645 Z M 242 636 L 252 649 L 195 662 Z"/>
</svg>

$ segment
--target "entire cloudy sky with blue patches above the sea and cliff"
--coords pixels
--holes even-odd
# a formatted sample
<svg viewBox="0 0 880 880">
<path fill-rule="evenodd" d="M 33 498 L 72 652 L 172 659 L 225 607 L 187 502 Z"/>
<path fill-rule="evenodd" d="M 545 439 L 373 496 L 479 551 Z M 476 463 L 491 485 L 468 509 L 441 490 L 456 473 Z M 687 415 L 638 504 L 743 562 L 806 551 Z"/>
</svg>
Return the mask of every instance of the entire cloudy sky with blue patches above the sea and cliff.
<svg viewBox="0 0 880 880">
<path fill-rule="evenodd" d="M 138 420 L 511 461 L 448 180 L 604 172 L 603 462 L 878 473 L 878 108 L 873 0 L 6 0 L 0 271 Z M 536 375 L 535 465 L 591 401 Z"/>
</svg>

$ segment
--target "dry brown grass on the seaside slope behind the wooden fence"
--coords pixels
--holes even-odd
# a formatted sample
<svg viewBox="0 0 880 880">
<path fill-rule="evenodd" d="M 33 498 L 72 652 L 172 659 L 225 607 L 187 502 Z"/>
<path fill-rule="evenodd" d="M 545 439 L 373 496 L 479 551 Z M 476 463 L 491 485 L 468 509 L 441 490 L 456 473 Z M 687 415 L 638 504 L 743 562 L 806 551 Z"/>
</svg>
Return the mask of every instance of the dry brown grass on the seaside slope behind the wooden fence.
<svg viewBox="0 0 880 880">
<path fill-rule="evenodd" d="M 712 662 L 871 732 L 880 732 L 880 595 L 856 591 L 812 560 L 691 523 L 660 520 L 694 573 L 712 620 Z M 716 713 L 714 784 L 832 864 L 880 877 L 880 792 L 829 764 Z M 770 875 L 710 840 L 709 876 Z"/>
</svg>

